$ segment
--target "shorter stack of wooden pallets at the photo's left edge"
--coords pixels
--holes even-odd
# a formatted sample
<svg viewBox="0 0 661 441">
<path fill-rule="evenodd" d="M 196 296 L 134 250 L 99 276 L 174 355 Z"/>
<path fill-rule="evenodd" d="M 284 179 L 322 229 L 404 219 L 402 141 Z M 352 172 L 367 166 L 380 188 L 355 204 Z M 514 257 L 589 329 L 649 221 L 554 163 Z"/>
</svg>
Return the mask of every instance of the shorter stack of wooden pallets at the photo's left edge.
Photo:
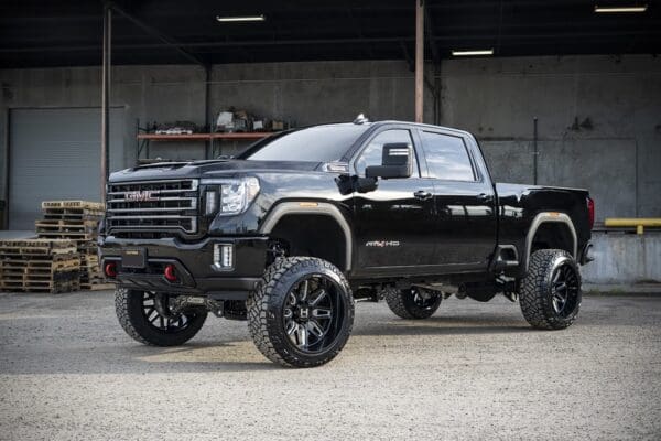
<svg viewBox="0 0 661 441">
<path fill-rule="evenodd" d="M 78 289 L 80 258 L 74 241 L 0 240 L 0 290 L 57 293 Z"/>
</svg>

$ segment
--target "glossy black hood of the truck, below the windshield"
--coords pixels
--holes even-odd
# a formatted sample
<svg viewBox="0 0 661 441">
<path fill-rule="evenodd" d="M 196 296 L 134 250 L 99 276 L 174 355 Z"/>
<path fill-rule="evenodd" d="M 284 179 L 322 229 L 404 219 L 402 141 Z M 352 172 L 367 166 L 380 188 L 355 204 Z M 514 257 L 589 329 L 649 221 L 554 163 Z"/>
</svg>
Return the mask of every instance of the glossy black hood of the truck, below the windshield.
<svg viewBox="0 0 661 441">
<path fill-rule="evenodd" d="M 313 172 L 319 168 L 319 162 L 299 161 L 247 161 L 221 159 L 192 162 L 160 162 L 121 170 L 110 175 L 108 182 L 149 181 L 186 178 L 214 178 L 260 171 L 268 172 Z"/>
</svg>

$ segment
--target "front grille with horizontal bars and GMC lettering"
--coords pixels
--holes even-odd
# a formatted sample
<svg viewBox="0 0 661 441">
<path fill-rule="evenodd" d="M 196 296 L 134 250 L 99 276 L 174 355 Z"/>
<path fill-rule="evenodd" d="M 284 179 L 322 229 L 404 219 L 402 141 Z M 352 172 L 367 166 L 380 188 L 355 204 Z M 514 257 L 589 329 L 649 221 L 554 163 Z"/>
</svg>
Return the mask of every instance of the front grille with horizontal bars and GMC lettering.
<svg viewBox="0 0 661 441">
<path fill-rule="evenodd" d="M 118 237 L 167 237 L 197 233 L 197 180 L 108 184 L 107 233 Z"/>
</svg>

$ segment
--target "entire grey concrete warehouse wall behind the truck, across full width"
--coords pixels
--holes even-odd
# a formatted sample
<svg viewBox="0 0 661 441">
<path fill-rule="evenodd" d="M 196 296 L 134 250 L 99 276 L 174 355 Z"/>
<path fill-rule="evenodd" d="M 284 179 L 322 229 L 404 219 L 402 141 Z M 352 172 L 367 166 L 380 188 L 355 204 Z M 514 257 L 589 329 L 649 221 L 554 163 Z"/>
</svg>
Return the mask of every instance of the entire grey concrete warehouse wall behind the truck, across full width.
<svg viewBox="0 0 661 441">
<path fill-rule="evenodd" d="M 199 67 L 120 66 L 112 69 L 112 84 L 111 105 L 126 109 L 126 165 L 136 159 L 137 118 L 205 120 Z M 538 117 L 539 183 L 588 187 L 598 219 L 661 216 L 660 58 L 452 60 L 443 63 L 442 84 L 442 123 L 476 133 L 497 180 L 533 181 Z M 8 109 L 100 105 L 98 67 L 0 71 L 0 158 Z M 425 99 L 431 122 L 429 90 Z M 413 75 L 399 61 L 215 66 L 210 109 L 228 106 L 301 126 L 347 121 L 360 111 L 371 119 L 411 120 Z M 204 155 L 203 144 L 160 146 L 152 147 L 152 157 Z M 225 152 L 236 150 L 228 146 Z"/>
</svg>

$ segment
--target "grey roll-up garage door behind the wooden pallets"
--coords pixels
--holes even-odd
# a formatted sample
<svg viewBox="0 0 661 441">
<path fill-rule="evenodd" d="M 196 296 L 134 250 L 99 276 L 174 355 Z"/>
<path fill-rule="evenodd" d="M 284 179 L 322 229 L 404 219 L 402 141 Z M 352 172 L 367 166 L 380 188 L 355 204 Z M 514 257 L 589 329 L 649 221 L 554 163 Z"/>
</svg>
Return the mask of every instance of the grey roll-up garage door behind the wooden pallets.
<svg viewBox="0 0 661 441">
<path fill-rule="evenodd" d="M 110 111 L 110 170 L 123 168 L 123 109 Z M 100 108 L 12 109 L 9 228 L 34 229 L 42 201 L 100 201 Z"/>
</svg>

